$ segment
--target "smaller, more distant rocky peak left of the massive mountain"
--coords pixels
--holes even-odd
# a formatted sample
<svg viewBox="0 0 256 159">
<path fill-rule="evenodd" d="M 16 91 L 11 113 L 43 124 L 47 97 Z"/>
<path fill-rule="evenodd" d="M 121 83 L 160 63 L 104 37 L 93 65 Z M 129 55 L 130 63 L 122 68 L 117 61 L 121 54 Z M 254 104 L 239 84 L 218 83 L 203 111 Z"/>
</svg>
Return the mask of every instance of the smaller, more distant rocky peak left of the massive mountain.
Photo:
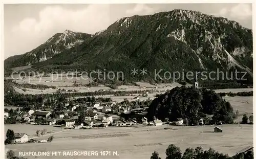
<svg viewBox="0 0 256 159">
<path fill-rule="evenodd" d="M 91 36 L 92 35 L 90 34 L 76 33 L 70 30 L 66 30 L 63 33 L 57 33 L 32 51 L 23 55 L 7 58 L 5 60 L 5 66 L 16 67 L 46 61 L 56 54 L 78 46 L 85 40 L 91 38 Z"/>
</svg>

